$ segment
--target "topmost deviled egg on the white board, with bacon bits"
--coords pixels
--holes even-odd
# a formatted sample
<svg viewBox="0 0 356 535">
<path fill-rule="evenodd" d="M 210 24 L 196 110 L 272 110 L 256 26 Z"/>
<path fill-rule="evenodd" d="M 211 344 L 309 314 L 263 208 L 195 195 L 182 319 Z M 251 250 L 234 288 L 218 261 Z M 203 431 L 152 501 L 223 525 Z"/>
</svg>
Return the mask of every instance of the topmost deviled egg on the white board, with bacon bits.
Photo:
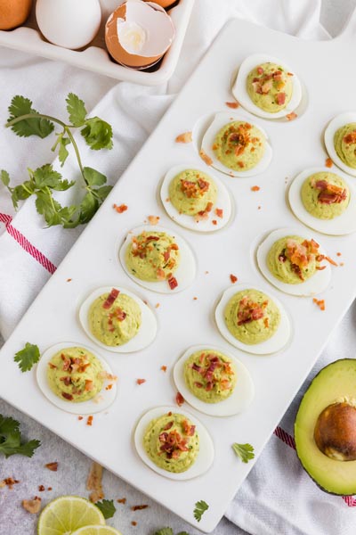
<svg viewBox="0 0 356 535">
<path fill-rule="evenodd" d="M 279 119 L 297 109 L 303 92 L 299 78 L 285 62 L 254 53 L 241 63 L 232 94 L 250 113 Z"/>
</svg>

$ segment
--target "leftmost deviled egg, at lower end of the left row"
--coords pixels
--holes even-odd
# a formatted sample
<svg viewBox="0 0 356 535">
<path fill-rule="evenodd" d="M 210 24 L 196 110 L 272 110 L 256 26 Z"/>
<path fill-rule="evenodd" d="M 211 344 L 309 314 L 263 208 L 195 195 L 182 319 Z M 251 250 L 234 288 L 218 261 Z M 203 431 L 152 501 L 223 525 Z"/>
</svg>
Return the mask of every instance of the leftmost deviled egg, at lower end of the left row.
<svg viewBox="0 0 356 535">
<path fill-rule="evenodd" d="M 107 362 L 82 344 L 61 342 L 45 350 L 36 379 L 53 405 L 75 415 L 101 412 L 117 395 L 117 377 Z"/>
</svg>

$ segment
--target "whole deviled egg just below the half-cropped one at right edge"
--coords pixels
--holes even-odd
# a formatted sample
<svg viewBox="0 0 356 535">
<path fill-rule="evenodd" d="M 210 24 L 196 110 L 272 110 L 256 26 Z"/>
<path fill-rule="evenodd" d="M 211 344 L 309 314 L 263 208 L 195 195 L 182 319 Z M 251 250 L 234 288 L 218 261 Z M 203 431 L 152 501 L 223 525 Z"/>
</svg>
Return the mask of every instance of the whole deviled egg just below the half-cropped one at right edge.
<svg viewBox="0 0 356 535">
<path fill-rule="evenodd" d="M 290 185 L 289 204 L 302 223 L 328 235 L 356 231 L 356 194 L 340 173 L 305 169 Z"/>
</svg>

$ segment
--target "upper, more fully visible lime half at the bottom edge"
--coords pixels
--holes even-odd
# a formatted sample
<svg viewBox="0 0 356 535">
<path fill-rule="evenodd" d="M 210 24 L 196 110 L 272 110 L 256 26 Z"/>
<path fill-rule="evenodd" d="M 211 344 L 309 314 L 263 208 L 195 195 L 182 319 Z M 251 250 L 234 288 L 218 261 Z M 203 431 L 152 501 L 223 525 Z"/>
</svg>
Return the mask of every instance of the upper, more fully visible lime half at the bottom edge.
<svg viewBox="0 0 356 535">
<path fill-rule="evenodd" d="M 37 532 L 38 535 L 71 535 L 83 526 L 98 524 L 105 525 L 99 507 L 85 498 L 61 496 L 44 507 L 38 519 Z"/>
</svg>

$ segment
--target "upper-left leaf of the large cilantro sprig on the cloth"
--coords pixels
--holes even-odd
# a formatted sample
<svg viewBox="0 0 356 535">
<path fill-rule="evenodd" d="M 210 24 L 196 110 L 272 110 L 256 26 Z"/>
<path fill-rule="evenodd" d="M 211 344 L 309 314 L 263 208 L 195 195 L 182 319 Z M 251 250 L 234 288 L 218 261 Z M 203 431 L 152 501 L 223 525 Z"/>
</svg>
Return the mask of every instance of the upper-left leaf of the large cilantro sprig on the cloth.
<svg viewBox="0 0 356 535">
<path fill-rule="evenodd" d="M 38 111 L 32 108 L 32 101 L 24 96 L 16 95 L 12 98 L 12 103 L 9 106 L 10 117 L 8 123 L 13 119 L 18 119 L 23 115 L 35 114 L 39 115 Z M 48 119 L 43 117 L 21 119 L 12 125 L 12 132 L 20 137 L 38 136 L 42 139 L 53 132 L 54 125 Z"/>
</svg>

